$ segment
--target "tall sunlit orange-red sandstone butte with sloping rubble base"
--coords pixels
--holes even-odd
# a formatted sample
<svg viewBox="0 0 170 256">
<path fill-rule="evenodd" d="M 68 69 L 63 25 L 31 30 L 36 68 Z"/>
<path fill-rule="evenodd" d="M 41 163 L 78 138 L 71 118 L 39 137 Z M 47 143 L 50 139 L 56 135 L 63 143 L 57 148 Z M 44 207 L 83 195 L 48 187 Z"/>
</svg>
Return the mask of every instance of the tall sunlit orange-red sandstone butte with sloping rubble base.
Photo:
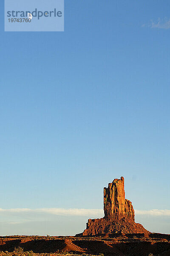
<svg viewBox="0 0 170 256">
<path fill-rule="evenodd" d="M 89 219 L 83 233 L 76 236 L 94 236 L 112 233 L 150 233 L 135 222 L 132 203 L 125 199 L 124 177 L 114 179 L 104 188 L 104 218 Z"/>
</svg>

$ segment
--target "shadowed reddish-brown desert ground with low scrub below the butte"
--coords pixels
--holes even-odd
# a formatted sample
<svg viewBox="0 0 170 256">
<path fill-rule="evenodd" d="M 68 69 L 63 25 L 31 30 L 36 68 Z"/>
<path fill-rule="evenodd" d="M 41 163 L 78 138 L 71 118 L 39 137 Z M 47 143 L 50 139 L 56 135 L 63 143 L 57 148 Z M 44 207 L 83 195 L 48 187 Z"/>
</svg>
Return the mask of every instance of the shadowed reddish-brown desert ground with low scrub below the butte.
<svg viewBox="0 0 170 256">
<path fill-rule="evenodd" d="M 0 256 L 170 256 L 170 235 L 1 236 Z"/>
</svg>

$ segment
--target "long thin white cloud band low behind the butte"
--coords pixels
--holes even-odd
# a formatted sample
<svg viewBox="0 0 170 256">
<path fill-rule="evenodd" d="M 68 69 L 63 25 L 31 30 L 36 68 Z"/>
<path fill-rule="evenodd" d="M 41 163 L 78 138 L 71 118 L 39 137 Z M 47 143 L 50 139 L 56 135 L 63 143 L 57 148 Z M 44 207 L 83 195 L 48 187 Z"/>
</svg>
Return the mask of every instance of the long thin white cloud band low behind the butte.
<svg viewBox="0 0 170 256">
<path fill-rule="evenodd" d="M 65 208 L 14 208 L 14 209 L 1 209 L 1 213 L 15 213 L 15 214 L 35 214 L 45 213 L 52 215 L 63 216 L 87 216 L 88 218 L 102 218 L 104 216 L 103 209 L 65 209 Z M 151 216 L 170 216 L 170 210 L 168 209 L 151 209 L 151 210 L 135 210 L 136 215 L 151 215 Z"/>
</svg>

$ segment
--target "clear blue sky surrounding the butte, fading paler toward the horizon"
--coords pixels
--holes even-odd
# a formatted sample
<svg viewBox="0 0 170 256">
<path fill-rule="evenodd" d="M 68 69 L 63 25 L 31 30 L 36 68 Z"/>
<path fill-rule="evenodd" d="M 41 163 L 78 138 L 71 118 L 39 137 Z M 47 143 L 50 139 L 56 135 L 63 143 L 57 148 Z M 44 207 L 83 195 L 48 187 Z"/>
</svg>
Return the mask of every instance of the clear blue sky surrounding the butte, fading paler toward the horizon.
<svg viewBox="0 0 170 256">
<path fill-rule="evenodd" d="M 0 208 L 102 209 L 124 176 L 135 209 L 170 209 L 170 1 L 65 0 L 65 32 L 4 32 L 3 8 Z M 74 234 L 93 217 L 12 214 L 2 234 Z M 169 220 L 136 215 L 155 232 Z"/>
</svg>

